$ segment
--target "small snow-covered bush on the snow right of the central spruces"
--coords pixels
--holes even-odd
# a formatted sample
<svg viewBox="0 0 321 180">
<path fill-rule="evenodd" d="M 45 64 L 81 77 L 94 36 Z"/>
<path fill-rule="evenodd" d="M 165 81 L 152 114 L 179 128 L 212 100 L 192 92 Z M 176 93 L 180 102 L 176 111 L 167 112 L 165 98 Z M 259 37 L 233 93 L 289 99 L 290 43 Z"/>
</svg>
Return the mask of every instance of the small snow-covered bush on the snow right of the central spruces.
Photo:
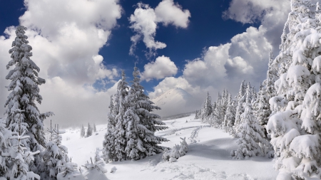
<svg viewBox="0 0 321 180">
<path fill-rule="evenodd" d="M 185 141 L 185 137 L 184 139 L 180 137 L 180 139 L 182 139 L 180 145 L 175 144 L 175 147 L 173 147 L 172 149 L 166 149 L 163 152 L 164 161 L 176 162 L 176 159 L 178 159 L 179 157 L 183 157 L 188 152 L 188 144 Z"/>
</svg>

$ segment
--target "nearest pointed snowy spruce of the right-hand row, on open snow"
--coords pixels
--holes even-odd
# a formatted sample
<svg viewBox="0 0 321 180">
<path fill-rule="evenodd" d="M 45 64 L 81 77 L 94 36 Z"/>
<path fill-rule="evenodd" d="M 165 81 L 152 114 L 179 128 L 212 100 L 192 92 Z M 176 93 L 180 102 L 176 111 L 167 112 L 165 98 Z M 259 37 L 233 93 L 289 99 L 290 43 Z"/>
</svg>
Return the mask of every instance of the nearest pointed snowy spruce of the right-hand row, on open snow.
<svg viewBox="0 0 321 180">
<path fill-rule="evenodd" d="M 245 157 L 253 157 L 258 155 L 265 155 L 262 149 L 267 141 L 263 138 L 265 134 L 263 132 L 263 127 L 258 125 L 255 117 L 252 113 L 252 92 L 250 83 L 245 92 L 245 103 L 242 115 L 240 115 L 240 125 L 236 129 L 236 133 L 240 139 L 238 139 L 238 149 L 233 151 L 231 155 L 235 159 L 244 159 Z"/>
</svg>

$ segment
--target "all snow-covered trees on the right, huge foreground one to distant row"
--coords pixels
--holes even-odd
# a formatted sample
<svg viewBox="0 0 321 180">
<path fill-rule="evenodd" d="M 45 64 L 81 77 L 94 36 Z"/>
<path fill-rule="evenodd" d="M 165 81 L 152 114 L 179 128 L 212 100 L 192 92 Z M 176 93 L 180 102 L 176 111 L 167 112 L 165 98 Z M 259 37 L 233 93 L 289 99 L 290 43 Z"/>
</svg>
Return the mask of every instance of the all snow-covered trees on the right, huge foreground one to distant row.
<svg viewBox="0 0 321 180">
<path fill-rule="evenodd" d="M 203 122 L 240 138 L 239 149 L 232 152 L 236 158 L 265 152 L 270 142 L 277 179 L 321 179 L 320 29 L 320 3 L 292 0 L 280 53 L 270 55 L 260 91 L 242 83 L 234 100 L 223 95 L 211 104 L 208 95 L 197 112 Z"/>
</svg>

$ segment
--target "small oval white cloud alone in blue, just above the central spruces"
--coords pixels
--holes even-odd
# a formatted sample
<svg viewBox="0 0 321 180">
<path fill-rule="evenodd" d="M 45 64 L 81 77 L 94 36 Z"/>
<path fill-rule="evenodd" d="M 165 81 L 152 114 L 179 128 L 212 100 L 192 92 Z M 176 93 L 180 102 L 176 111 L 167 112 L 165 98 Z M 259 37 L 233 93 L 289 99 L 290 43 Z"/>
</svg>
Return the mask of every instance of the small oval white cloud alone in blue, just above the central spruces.
<svg viewBox="0 0 321 180">
<path fill-rule="evenodd" d="M 146 80 L 147 82 L 153 78 L 157 80 L 163 79 L 166 76 L 175 75 L 178 68 L 175 63 L 170 60 L 170 58 L 164 55 L 156 58 L 154 62 L 144 65 L 144 72 L 141 73 L 141 80 Z"/>
</svg>

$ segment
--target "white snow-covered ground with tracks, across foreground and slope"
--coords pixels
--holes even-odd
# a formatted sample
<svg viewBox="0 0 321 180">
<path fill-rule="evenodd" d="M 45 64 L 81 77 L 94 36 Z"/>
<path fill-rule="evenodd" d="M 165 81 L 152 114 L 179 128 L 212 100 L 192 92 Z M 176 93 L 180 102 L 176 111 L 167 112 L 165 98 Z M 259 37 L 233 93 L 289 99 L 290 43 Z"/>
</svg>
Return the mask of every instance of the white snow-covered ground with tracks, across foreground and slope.
<svg viewBox="0 0 321 180">
<path fill-rule="evenodd" d="M 180 144 L 180 137 L 186 137 L 188 153 L 177 162 L 164 162 L 162 154 L 139 161 L 112 162 L 105 164 L 108 172 L 95 176 L 95 179 L 276 179 L 277 172 L 272 168 L 272 159 L 231 159 L 230 151 L 237 149 L 237 139 L 222 129 L 208 127 L 200 123 L 200 120 L 193 120 L 194 117 L 195 114 L 165 121 L 169 129 L 156 132 L 158 136 L 170 140 L 162 144 L 164 147 L 172 148 L 175 144 Z M 63 145 L 68 147 L 72 162 L 76 162 L 78 166 L 85 164 L 87 160 L 90 162 L 90 157 L 95 156 L 96 148 L 103 149 L 106 125 L 97 125 L 96 128 L 97 134 L 93 133 L 93 136 L 87 138 L 80 137 L 80 129 L 66 129 L 66 134 L 63 134 Z M 111 169 L 116 170 L 111 173 Z"/>
</svg>

